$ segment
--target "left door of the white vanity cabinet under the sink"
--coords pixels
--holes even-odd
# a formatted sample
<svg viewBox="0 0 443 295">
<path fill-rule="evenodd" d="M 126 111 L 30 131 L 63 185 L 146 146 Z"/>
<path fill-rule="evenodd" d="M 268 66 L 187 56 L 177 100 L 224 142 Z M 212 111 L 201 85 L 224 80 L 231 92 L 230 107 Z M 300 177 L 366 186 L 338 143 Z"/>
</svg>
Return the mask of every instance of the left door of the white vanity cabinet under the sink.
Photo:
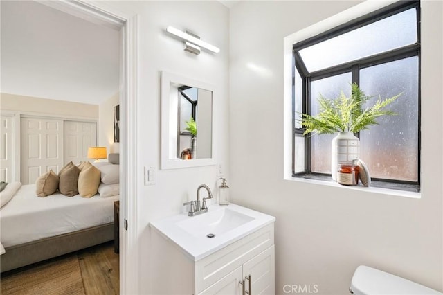
<svg viewBox="0 0 443 295">
<path fill-rule="evenodd" d="M 239 282 L 242 280 L 242 267 L 237 267 L 228 275 L 224 276 L 217 283 L 206 288 L 199 295 L 241 295 L 242 285 Z"/>
</svg>

